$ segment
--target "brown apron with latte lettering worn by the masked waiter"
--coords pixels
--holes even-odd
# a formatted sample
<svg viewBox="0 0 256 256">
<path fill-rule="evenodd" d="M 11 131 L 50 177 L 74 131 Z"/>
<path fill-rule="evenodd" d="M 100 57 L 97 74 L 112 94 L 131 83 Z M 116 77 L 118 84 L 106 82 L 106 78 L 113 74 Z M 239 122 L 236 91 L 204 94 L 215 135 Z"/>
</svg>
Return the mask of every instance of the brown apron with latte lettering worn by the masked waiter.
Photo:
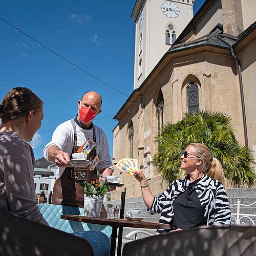
<svg viewBox="0 0 256 256">
<path fill-rule="evenodd" d="M 74 126 L 74 146 L 72 149 L 72 154 L 78 150 L 80 146 L 76 146 L 76 129 L 75 121 L 72 120 L 72 125 Z M 93 140 L 96 142 L 95 129 L 93 126 Z M 76 148 L 76 150 L 75 150 Z M 70 159 L 72 159 L 72 154 Z M 88 160 L 93 160 L 96 156 L 96 146 L 88 154 Z M 79 185 L 79 181 L 91 180 L 98 178 L 97 166 L 94 170 L 89 170 L 89 166 L 84 168 L 79 167 L 66 167 L 60 178 L 58 178 L 53 186 L 52 193 L 52 204 L 74 206 L 83 208 L 83 188 Z M 100 217 L 106 217 L 106 210 L 102 204 Z"/>
</svg>

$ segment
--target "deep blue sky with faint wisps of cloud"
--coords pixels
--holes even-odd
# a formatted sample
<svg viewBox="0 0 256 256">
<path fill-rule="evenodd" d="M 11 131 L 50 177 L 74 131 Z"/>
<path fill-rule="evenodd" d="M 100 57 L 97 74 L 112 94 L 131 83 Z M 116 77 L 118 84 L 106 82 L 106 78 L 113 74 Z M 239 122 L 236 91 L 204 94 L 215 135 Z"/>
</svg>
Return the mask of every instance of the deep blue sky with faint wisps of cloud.
<svg viewBox="0 0 256 256">
<path fill-rule="evenodd" d="M 108 136 L 112 155 L 113 117 L 133 91 L 135 2 L 1 0 L 1 18 L 90 73 L 0 20 L 0 99 L 19 86 L 44 101 L 45 117 L 32 141 L 36 159 L 53 130 L 76 115 L 77 100 L 91 90 L 102 96 L 102 113 L 94 123 Z M 195 1 L 194 13 L 203 3 Z"/>
</svg>

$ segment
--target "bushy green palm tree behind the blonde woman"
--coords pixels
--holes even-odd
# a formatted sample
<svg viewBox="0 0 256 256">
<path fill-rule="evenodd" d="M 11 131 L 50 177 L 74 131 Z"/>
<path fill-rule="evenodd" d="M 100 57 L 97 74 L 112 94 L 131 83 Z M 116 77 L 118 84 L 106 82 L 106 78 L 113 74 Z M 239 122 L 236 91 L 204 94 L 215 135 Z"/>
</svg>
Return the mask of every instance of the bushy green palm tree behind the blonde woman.
<svg viewBox="0 0 256 256">
<path fill-rule="evenodd" d="M 221 161 L 225 178 L 233 187 L 256 184 L 252 153 L 247 146 L 240 145 L 231 118 L 226 114 L 207 110 L 186 113 L 180 121 L 167 123 L 155 142 L 158 151 L 153 163 L 164 181 L 170 183 L 184 177 L 180 169 L 181 151 L 189 143 L 199 142 L 209 147 L 212 155 Z"/>
</svg>

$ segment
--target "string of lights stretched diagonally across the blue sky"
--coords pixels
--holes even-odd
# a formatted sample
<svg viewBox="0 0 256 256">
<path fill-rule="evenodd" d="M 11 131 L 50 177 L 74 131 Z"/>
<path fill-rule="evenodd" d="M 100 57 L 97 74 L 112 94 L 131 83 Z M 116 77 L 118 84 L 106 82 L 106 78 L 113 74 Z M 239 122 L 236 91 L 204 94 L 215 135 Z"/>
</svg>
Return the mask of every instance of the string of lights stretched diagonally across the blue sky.
<svg viewBox="0 0 256 256">
<path fill-rule="evenodd" d="M 72 65 L 74 68 L 77 68 L 78 70 L 82 71 L 83 73 L 86 73 L 88 76 L 94 78 L 95 80 L 99 81 L 100 83 L 104 84 L 105 86 L 111 88 L 112 90 L 122 94 L 125 97 L 129 97 L 126 94 L 124 94 L 123 92 L 117 90 L 116 88 L 114 88 L 113 86 L 110 86 L 110 84 L 102 81 L 101 79 L 97 78 L 95 75 L 90 74 L 89 72 L 87 72 L 86 70 L 80 68 L 79 66 L 77 66 L 75 63 L 71 62 L 70 60 L 66 59 L 65 57 L 61 56 L 60 54 L 58 54 L 57 52 L 51 50 L 50 48 L 48 48 L 46 45 L 42 44 L 40 41 L 34 39 L 32 36 L 28 35 L 27 33 L 23 32 L 22 30 L 19 29 L 19 27 L 15 27 L 14 25 L 12 25 L 11 23 L 7 22 L 7 20 L 5 20 L 4 18 L 0 17 L 0 19 L 5 22 L 6 24 L 8 24 L 9 26 L 13 27 L 14 29 L 17 30 L 17 32 L 22 33 L 23 35 L 27 36 L 28 38 L 30 38 L 31 40 L 35 41 L 39 46 L 44 47 L 46 50 L 50 51 L 51 53 L 55 54 L 58 58 L 61 58 L 62 60 L 68 62 L 70 65 Z"/>
</svg>

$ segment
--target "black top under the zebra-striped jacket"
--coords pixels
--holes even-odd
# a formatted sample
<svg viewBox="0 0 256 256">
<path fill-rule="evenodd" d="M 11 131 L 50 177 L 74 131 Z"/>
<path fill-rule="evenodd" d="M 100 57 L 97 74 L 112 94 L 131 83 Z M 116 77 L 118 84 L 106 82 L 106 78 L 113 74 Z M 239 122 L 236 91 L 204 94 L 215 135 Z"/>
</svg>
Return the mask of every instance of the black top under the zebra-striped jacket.
<svg viewBox="0 0 256 256">
<path fill-rule="evenodd" d="M 194 186 L 201 180 L 190 183 L 187 189 L 174 201 L 173 230 L 206 225 L 204 211 Z"/>
</svg>

